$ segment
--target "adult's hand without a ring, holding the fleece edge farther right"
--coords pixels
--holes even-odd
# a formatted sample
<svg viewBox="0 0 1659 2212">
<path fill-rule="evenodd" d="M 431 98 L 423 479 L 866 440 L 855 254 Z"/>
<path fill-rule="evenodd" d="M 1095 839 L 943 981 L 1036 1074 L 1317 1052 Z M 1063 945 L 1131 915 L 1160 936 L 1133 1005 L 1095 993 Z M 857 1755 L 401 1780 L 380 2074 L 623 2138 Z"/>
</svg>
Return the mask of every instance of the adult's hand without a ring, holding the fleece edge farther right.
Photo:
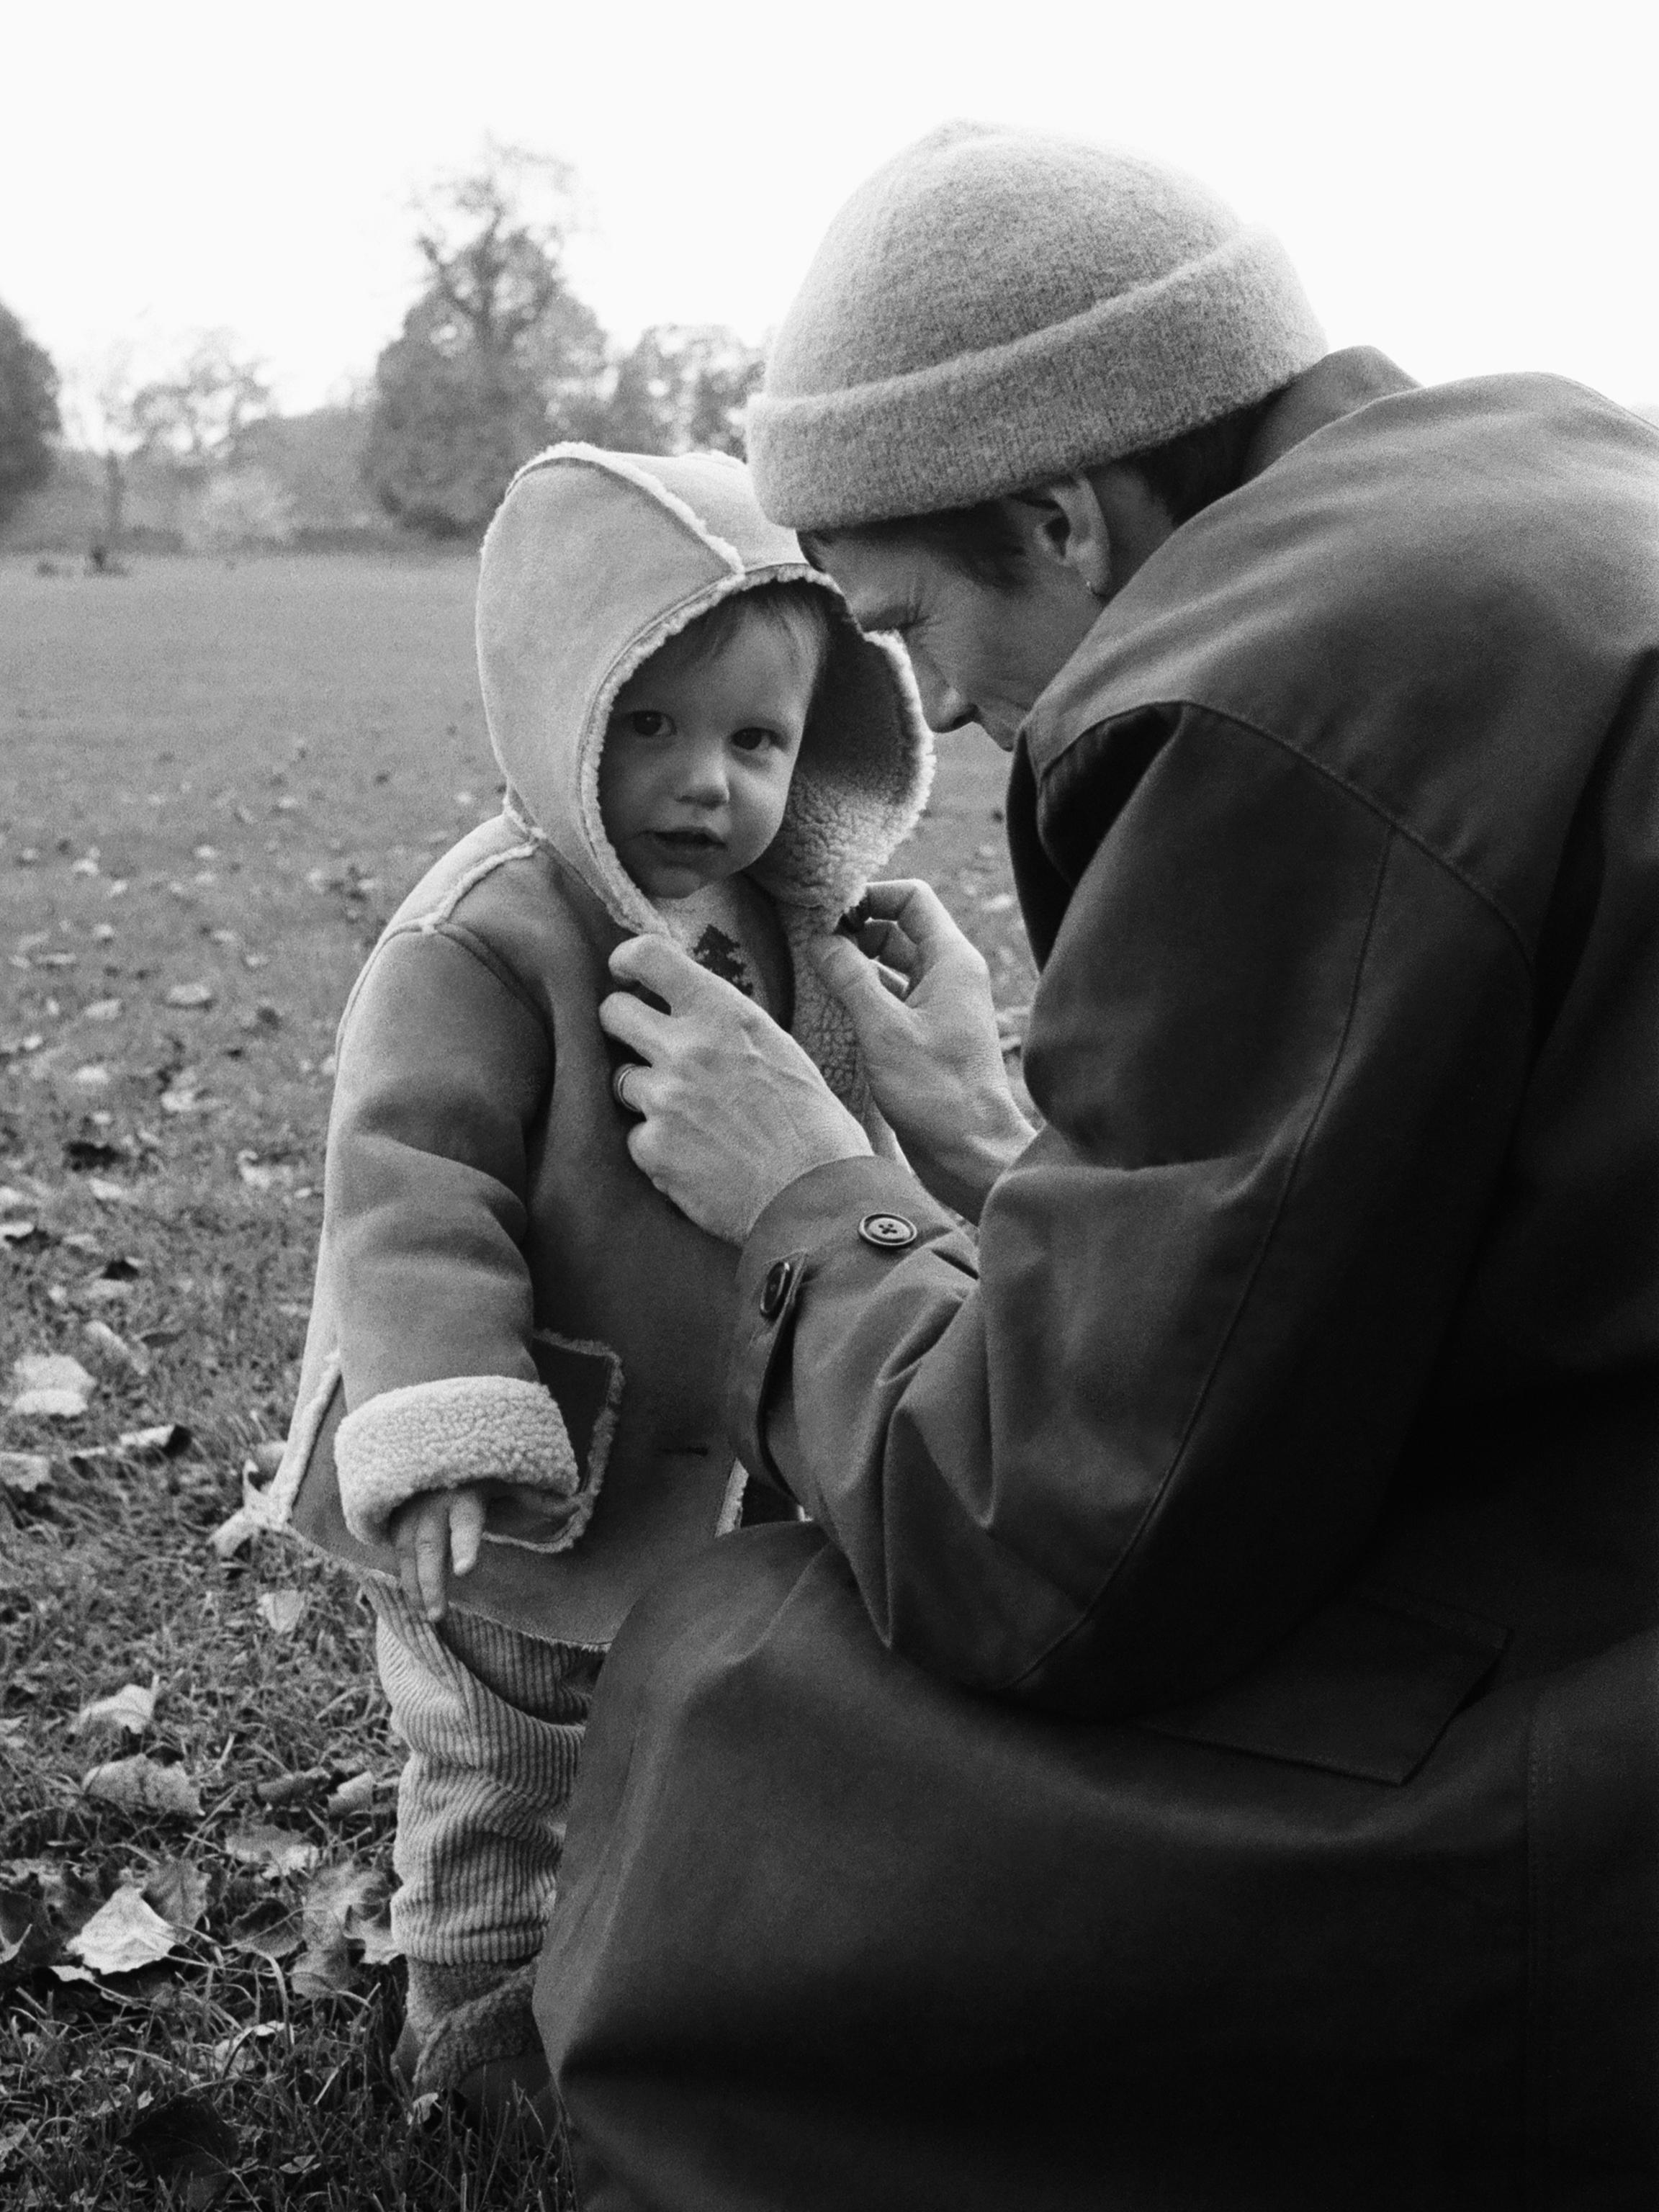
<svg viewBox="0 0 1659 2212">
<path fill-rule="evenodd" d="M 936 1199 L 971 1221 L 1035 1130 L 1002 1060 L 991 971 L 925 883 L 876 883 L 858 951 L 816 949 L 818 973 L 852 1015 L 869 1088 Z M 900 991 L 883 984 L 896 971 Z"/>
</svg>

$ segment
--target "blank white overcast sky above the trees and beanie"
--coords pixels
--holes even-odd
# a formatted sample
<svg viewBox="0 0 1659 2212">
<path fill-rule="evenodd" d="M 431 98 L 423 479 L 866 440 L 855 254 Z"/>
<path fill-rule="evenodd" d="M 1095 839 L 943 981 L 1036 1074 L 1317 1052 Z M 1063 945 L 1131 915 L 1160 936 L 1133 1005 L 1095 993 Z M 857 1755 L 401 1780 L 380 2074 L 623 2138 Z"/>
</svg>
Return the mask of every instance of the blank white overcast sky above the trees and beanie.
<svg viewBox="0 0 1659 2212">
<path fill-rule="evenodd" d="M 487 131 L 575 164 L 606 327 L 759 338 L 852 186 L 978 115 L 1206 177 L 1336 345 L 1659 400 L 1659 0 L 60 0 L 4 71 L 0 301 L 64 369 L 230 325 L 285 407 L 338 392 Z"/>
</svg>

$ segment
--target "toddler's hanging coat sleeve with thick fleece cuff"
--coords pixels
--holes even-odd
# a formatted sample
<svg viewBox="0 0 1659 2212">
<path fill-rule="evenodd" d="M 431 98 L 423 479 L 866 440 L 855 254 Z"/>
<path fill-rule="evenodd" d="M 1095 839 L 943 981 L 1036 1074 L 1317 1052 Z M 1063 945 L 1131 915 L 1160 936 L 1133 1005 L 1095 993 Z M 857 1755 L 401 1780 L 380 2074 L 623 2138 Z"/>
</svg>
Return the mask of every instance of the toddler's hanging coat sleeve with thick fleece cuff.
<svg viewBox="0 0 1659 2212">
<path fill-rule="evenodd" d="M 343 1024 L 323 1221 L 341 1504 L 367 1542 L 420 1491 L 577 1489 L 531 1356 L 522 1250 L 551 1073 L 546 1024 L 471 933 L 378 947 Z"/>
</svg>

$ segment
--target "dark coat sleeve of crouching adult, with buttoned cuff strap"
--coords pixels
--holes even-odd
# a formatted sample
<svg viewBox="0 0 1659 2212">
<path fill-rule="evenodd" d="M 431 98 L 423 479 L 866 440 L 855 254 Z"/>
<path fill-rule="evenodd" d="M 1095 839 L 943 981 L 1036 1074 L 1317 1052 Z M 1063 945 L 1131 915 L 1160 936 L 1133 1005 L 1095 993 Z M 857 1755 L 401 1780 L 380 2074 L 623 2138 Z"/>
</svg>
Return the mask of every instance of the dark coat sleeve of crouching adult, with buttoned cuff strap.
<svg viewBox="0 0 1659 2212">
<path fill-rule="evenodd" d="M 754 1225 L 732 1371 L 894 1648 L 1102 1717 L 1241 1672 L 1356 1562 L 1531 1024 L 1504 916 L 1369 801 L 1197 710 L 1148 750 L 978 1252 L 900 1168 L 814 1170 Z"/>
</svg>

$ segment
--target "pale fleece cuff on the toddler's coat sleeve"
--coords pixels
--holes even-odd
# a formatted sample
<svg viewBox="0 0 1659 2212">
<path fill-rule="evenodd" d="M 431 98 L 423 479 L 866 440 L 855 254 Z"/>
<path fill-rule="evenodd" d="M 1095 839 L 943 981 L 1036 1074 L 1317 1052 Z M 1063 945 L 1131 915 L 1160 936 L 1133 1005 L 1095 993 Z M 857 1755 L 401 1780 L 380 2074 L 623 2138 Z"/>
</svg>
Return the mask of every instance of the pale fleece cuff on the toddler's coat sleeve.
<svg viewBox="0 0 1659 2212">
<path fill-rule="evenodd" d="M 345 1526 L 363 1544 L 389 1542 L 392 1515 L 422 1491 L 513 1482 L 573 1498 L 582 1482 L 551 1394 L 515 1376 L 380 1391 L 341 1422 L 334 1467 Z"/>
</svg>

